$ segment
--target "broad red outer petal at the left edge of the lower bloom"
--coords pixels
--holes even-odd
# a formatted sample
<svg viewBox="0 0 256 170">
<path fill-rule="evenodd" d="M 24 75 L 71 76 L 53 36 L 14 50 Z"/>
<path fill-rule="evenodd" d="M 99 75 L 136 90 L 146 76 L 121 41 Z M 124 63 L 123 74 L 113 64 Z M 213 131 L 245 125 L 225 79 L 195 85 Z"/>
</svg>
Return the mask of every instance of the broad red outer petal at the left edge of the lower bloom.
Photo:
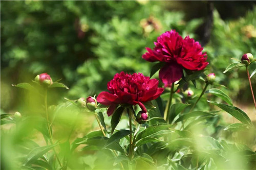
<svg viewBox="0 0 256 170">
<path fill-rule="evenodd" d="M 97 96 L 97 102 L 102 105 L 111 105 L 112 103 L 118 103 L 118 97 L 106 91 L 102 91 Z"/>
</svg>

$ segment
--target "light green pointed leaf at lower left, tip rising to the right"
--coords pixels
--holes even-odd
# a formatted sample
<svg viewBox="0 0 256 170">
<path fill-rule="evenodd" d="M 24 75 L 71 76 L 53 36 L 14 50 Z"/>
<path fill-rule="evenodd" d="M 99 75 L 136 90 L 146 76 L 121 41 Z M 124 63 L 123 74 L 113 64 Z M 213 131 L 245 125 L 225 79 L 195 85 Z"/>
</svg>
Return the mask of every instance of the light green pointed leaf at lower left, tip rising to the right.
<svg viewBox="0 0 256 170">
<path fill-rule="evenodd" d="M 30 153 L 27 155 L 27 158 L 24 162 L 24 165 L 29 165 L 30 163 L 33 163 L 37 158 L 43 156 L 45 153 L 53 149 L 56 144 L 48 145 L 46 147 L 38 147 L 34 148 Z"/>
</svg>

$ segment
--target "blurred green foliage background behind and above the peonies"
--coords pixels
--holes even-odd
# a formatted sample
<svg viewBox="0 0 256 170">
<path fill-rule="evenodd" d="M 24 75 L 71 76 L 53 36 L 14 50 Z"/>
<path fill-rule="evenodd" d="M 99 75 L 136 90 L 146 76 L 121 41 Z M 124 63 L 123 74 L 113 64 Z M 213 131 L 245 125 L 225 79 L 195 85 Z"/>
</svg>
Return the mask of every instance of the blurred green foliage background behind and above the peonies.
<svg viewBox="0 0 256 170">
<path fill-rule="evenodd" d="M 141 56 L 156 38 L 175 29 L 204 46 L 209 72 L 234 103 L 252 114 L 244 69 L 222 74 L 230 58 L 256 57 L 254 1 L 3 1 L 1 2 L 1 112 L 25 112 L 24 90 L 11 84 L 31 82 L 47 72 L 70 90 L 52 90 L 50 104 L 106 90 L 116 72 L 149 76 L 154 63 Z M 255 63 L 250 71 L 255 68 Z M 156 74 L 155 78 L 158 77 Z M 255 87 L 256 79 L 252 79 Z M 194 89 L 201 91 L 199 89 Z M 255 88 L 254 88 L 255 90 Z M 58 95 L 58 96 L 57 96 Z M 250 104 L 247 104 L 250 103 Z M 41 106 L 40 103 L 33 107 Z M 251 110 L 250 110 L 251 108 Z M 253 119 L 255 116 L 251 116 Z"/>
</svg>

